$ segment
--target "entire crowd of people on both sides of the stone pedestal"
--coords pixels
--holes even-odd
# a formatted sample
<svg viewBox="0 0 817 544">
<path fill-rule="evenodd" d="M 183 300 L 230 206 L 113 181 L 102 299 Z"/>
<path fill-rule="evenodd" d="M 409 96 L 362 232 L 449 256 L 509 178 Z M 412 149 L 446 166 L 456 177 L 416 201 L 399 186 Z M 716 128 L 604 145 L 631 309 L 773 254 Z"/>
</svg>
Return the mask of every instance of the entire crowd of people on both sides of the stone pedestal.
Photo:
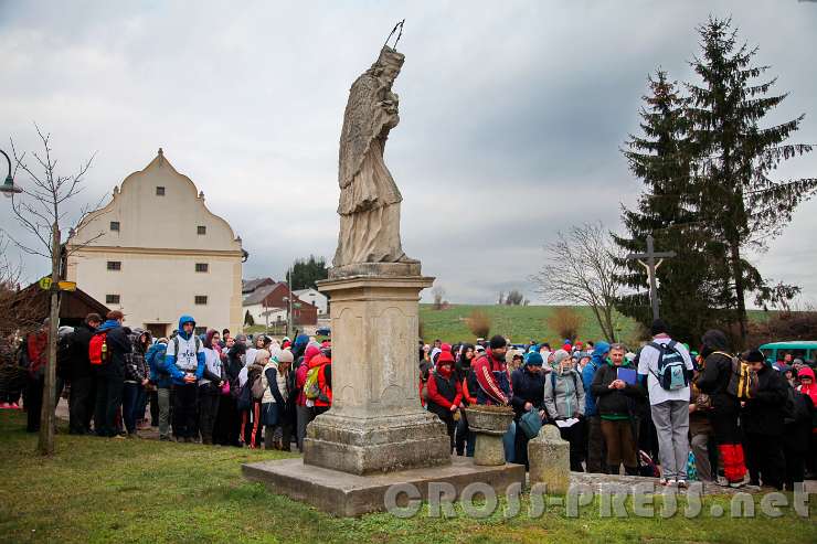
<svg viewBox="0 0 817 544">
<path fill-rule="evenodd" d="M 123 324 L 120 311 L 60 328 L 56 399 L 68 388 L 68 431 L 303 451 L 307 425 L 332 403 L 331 343 L 298 334 L 195 334 L 191 316 L 170 338 Z M 40 427 L 47 367 L 47 321 L 2 342 L 0 408 L 28 413 Z M 570 444 L 573 471 L 692 479 L 723 486 L 793 489 L 817 472 L 814 363 L 733 354 L 708 331 L 700 348 L 652 323 L 635 351 L 622 343 L 566 340 L 514 345 L 420 344 L 421 405 L 445 425 L 452 452 L 474 456 L 466 407 L 506 406 L 514 418 L 506 458 L 528 466 L 528 442 L 555 425 Z M 149 416 L 149 417 L 148 417 Z M 149 420 L 148 420 L 149 419 Z"/>
</svg>

